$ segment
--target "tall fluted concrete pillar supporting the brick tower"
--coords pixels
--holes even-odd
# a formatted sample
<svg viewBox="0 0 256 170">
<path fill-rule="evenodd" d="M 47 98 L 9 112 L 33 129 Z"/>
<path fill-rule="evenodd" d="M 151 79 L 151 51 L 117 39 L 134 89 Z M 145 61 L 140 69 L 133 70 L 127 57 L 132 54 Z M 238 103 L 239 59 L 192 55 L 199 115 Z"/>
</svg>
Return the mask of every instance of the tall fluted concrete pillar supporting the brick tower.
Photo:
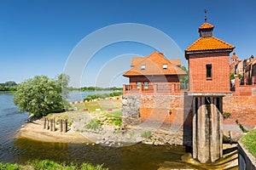
<svg viewBox="0 0 256 170">
<path fill-rule="evenodd" d="M 201 163 L 214 162 L 223 155 L 222 114 L 217 105 L 222 108 L 221 97 L 193 99 L 193 158 Z"/>
</svg>

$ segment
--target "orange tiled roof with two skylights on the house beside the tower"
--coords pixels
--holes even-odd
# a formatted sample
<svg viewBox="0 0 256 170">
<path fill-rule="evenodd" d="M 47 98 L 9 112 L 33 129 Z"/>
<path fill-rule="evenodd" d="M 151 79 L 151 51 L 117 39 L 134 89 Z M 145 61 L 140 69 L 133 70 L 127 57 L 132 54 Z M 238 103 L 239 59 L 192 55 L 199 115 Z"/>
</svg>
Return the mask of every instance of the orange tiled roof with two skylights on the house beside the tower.
<svg viewBox="0 0 256 170">
<path fill-rule="evenodd" d="M 177 60 L 176 63 L 178 63 Z M 187 74 L 176 64 L 172 64 L 169 59 L 166 59 L 164 54 L 157 52 L 148 55 L 148 57 L 142 57 L 140 59 L 133 58 L 131 59 L 131 65 L 133 65 L 133 67 L 125 72 L 124 77 Z M 145 65 L 144 70 L 142 70 L 142 65 Z M 167 65 L 166 70 L 163 70 L 163 65 Z"/>
</svg>

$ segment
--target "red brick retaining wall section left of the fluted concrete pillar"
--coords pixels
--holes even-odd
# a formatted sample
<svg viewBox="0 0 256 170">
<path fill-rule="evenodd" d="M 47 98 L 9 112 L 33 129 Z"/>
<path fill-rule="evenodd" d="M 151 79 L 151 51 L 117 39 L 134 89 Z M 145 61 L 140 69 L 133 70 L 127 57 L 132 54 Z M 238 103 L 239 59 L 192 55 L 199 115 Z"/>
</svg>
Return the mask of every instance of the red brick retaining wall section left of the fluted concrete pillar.
<svg viewBox="0 0 256 170">
<path fill-rule="evenodd" d="M 184 108 L 182 95 L 143 95 L 140 107 L 141 121 L 192 125 L 190 105 Z M 170 112 L 169 112 L 170 111 Z"/>
</svg>

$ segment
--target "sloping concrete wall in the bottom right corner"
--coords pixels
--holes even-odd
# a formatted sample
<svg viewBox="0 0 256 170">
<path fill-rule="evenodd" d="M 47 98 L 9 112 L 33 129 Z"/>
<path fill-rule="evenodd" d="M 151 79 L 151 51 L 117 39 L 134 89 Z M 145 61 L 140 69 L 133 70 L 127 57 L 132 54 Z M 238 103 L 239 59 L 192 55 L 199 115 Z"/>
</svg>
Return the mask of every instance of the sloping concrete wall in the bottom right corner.
<svg viewBox="0 0 256 170">
<path fill-rule="evenodd" d="M 237 144 L 238 151 L 238 167 L 241 170 L 255 170 L 256 169 L 256 158 L 245 149 L 241 143 Z"/>
</svg>

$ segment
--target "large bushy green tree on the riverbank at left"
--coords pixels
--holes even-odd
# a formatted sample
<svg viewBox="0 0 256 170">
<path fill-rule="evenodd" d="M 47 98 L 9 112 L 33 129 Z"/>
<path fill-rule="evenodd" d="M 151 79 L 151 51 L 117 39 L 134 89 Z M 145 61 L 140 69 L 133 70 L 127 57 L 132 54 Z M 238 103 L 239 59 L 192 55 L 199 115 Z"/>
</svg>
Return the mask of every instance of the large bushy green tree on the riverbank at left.
<svg viewBox="0 0 256 170">
<path fill-rule="evenodd" d="M 20 107 L 20 111 L 28 111 L 35 116 L 45 116 L 67 108 L 68 102 L 62 98 L 61 82 L 64 81 L 61 77 L 54 80 L 46 76 L 36 76 L 21 82 L 15 93 L 15 105 Z M 65 81 L 63 84 L 66 87 L 68 79 Z"/>
</svg>

